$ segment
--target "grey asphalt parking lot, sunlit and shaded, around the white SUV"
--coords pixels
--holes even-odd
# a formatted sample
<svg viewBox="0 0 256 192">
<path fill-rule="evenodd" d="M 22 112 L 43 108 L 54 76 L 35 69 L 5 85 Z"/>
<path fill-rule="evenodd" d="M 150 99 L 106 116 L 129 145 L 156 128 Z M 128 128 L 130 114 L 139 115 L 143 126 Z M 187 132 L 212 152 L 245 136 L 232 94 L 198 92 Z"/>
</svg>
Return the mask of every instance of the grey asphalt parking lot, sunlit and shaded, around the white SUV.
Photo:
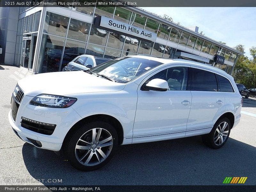
<svg viewBox="0 0 256 192">
<path fill-rule="evenodd" d="M 256 99 L 243 98 L 241 121 L 223 148 L 206 147 L 201 136 L 125 145 L 105 167 L 80 172 L 64 156 L 29 145 L 12 131 L 11 95 L 29 75 L 0 66 L 0 185 L 221 185 L 226 177 L 248 177 L 245 184 L 256 185 Z"/>
</svg>

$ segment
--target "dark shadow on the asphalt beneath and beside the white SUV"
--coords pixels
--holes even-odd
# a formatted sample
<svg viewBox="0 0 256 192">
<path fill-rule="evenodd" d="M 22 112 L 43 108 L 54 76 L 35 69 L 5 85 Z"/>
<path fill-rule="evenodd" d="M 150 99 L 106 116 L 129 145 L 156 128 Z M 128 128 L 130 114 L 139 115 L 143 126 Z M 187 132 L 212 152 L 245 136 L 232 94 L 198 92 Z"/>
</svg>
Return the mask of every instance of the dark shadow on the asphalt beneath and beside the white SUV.
<svg viewBox="0 0 256 192">
<path fill-rule="evenodd" d="M 32 145 L 23 146 L 22 154 L 28 172 L 44 185 L 220 185 L 226 177 L 248 177 L 245 184 L 255 185 L 255 149 L 232 138 L 211 149 L 201 136 L 124 145 L 92 172 L 78 171 L 64 156 Z"/>
</svg>

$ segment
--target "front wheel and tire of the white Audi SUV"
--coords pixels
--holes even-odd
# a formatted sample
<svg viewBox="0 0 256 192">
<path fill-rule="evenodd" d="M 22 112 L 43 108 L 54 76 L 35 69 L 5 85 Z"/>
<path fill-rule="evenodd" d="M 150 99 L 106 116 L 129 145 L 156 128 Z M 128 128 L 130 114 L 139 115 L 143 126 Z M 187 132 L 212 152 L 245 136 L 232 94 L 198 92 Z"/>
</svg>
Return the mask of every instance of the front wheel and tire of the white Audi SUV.
<svg viewBox="0 0 256 192">
<path fill-rule="evenodd" d="M 78 124 L 75 130 L 67 135 L 63 151 L 73 167 L 81 171 L 92 171 L 107 164 L 117 146 L 118 136 L 115 128 L 104 121 L 92 121 Z"/>
</svg>

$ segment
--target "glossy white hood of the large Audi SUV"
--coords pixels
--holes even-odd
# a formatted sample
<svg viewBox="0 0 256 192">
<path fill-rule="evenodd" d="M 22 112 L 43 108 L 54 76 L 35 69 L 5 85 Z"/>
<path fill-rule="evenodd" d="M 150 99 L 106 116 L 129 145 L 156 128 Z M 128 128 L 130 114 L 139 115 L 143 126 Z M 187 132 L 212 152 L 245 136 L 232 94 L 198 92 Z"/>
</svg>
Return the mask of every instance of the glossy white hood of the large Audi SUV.
<svg viewBox="0 0 256 192">
<path fill-rule="evenodd" d="M 27 96 L 114 92 L 123 90 L 126 85 L 90 75 L 84 71 L 37 74 L 21 79 L 18 84 Z"/>
</svg>

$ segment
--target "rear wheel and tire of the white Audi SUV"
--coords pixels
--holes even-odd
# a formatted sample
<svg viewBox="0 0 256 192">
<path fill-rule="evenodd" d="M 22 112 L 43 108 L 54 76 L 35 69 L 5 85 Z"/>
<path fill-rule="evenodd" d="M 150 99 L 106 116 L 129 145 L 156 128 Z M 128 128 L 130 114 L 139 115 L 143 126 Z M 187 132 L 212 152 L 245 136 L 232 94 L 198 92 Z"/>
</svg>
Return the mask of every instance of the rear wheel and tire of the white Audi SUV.
<svg viewBox="0 0 256 192">
<path fill-rule="evenodd" d="M 203 143 L 206 146 L 213 149 L 221 148 L 228 140 L 230 129 L 231 129 L 231 124 L 228 118 L 225 117 L 225 118 L 219 119 L 214 124 L 212 131 L 209 134 L 202 135 Z"/>
</svg>

